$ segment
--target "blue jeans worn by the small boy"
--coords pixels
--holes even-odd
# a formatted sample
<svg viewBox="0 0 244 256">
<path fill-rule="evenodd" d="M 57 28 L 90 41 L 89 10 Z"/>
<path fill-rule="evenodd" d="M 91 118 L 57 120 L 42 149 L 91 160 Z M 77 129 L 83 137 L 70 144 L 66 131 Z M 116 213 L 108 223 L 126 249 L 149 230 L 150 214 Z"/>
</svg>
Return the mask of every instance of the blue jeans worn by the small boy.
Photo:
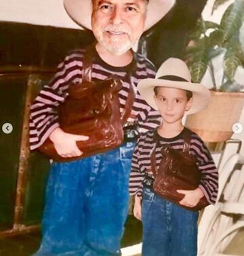
<svg viewBox="0 0 244 256">
<path fill-rule="evenodd" d="M 144 187 L 142 256 L 197 256 L 198 216 Z"/>
</svg>

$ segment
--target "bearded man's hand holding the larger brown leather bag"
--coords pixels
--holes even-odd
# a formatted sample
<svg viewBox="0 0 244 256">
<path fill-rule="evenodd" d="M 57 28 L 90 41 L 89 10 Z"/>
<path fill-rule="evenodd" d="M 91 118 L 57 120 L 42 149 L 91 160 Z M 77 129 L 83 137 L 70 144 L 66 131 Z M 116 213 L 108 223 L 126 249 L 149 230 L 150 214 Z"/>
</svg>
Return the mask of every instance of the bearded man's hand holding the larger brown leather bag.
<svg viewBox="0 0 244 256">
<path fill-rule="evenodd" d="M 54 148 L 59 156 L 62 158 L 73 158 L 82 155 L 76 142 L 86 141 L 89 137 L 66 133 L 61 128 L 56 128 L 50 134 L 49 139 L 54 143 Z"/>
</svg>

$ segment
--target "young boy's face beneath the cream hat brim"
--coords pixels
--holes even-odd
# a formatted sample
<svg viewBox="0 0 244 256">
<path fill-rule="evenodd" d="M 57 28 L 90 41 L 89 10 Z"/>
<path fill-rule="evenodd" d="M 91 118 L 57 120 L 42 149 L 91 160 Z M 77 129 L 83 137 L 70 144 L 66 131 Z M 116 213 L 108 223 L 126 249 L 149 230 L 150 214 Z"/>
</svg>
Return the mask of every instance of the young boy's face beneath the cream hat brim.
<svg viewBox="0 0 244 256">
<path fill-rule="evenodd" d="M 185 111 L 192 106 L 192 98 L 187 99 L 186 91 L 176 88 L 157 88 L 155 101 L 163 122 L 169 124 L 182 120 Z"/>
</svg>

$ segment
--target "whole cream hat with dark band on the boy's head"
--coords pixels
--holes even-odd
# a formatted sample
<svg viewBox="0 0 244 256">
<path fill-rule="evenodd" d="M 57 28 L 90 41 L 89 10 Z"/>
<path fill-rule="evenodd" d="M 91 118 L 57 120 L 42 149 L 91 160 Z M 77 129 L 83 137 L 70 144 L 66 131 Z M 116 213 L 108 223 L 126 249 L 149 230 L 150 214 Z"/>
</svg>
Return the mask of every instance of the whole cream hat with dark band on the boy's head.
<svg viewBox="0 0 244 256">
<path fill-rule="evenodd" d="M 138 91 L 142 98 L 153 109 L 158 109 L 155 103 L 154 88 L 167 87 L 188 90 L 192 92 L 192 107 L 186 111 L 186 115 L 196 113 L 205 109 L 209 104 L 211 94 L 209 90 L 197 83 L 192 83 L 191 75 L 186 63 L 179 58 L 168 58 L 157 71 L 155 79 L 142 79 L 138 83 Z"/>
</svg>

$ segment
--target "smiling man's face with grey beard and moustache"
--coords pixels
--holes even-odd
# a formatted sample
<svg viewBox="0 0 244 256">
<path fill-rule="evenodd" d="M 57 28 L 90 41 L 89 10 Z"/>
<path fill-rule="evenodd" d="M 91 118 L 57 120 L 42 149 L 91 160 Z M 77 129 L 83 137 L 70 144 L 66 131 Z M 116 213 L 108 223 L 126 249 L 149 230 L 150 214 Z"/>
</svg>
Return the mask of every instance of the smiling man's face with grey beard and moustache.
<svg viewBox="0 0 244 256">
<path fill-rule="evenodd" d="M 146 0 L 94 0 L 92 31 L 108 52 L 121 55 L 140 38 L 146 20 Z"/>
</svg>

